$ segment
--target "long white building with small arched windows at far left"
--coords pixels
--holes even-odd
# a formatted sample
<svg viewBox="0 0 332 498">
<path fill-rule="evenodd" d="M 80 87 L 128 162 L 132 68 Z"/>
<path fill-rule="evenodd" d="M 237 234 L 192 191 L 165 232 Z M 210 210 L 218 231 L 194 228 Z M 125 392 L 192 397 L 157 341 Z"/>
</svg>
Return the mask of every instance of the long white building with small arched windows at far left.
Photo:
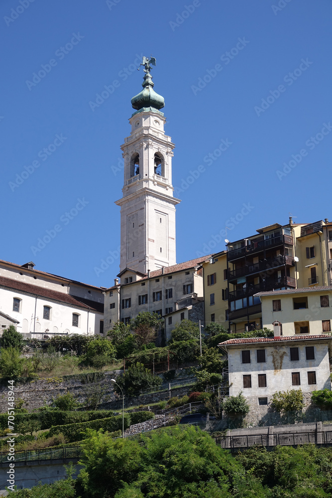
<svg viewBox="0 0 332 498">
<path fill-rule="evenodd" d="M 103 332 L 102 289 L 0 261 L 0 328 L 16 326 L 24 337 Z"/>
</svg>

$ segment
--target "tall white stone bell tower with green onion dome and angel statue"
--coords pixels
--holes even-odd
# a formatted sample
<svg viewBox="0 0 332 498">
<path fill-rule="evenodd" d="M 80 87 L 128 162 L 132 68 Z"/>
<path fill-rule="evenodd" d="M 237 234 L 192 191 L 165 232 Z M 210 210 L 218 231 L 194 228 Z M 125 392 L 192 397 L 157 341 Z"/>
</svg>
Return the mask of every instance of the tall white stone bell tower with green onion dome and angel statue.
<svg viewBox="0 0 332 498">
<path fill-rule="evenodd" d="M 150 74 L 155 59 L 143 57 L 143 90 L 131 99 L 135 112 L 131 133 L 121 145 L 124 158 L 121 207 L 120 271 L 141 273 L 176 263 L 172 157 L 174 143 L 165 134 L 160 111 L 164 99 L 153 90 Z"/>
</svg>

